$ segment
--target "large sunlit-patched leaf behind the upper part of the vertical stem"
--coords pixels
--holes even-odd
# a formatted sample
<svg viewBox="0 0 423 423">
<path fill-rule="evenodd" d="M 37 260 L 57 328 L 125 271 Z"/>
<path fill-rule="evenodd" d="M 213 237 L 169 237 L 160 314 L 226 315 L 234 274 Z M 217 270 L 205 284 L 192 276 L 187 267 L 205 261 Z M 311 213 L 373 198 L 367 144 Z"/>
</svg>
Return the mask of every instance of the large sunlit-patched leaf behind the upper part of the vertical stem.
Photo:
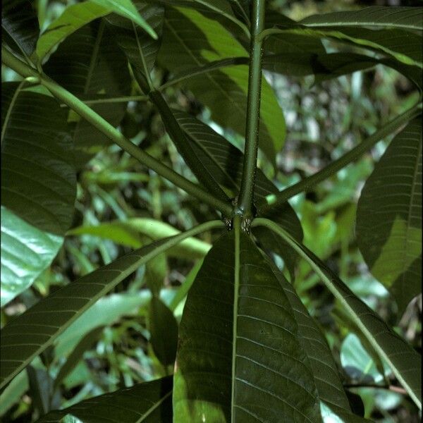
<svg viewBox="0 0 423 423">
<path fill-rule="evenodd" d="M 164 38 L 159 63 L 172 73 L 181 73 L 209 62 L 247 57 L 247 51 L 216 20 L 188 8 L 166 8 Z M 233 66 L 184 80 L 184 87 L 212 111 L 212 118 L 224 128 L 245 132 L 247 66 Z M 276 97 L 262 82 L 260 147 L 272 161 L 283 146 L 285 123 Z"/>
</svg>

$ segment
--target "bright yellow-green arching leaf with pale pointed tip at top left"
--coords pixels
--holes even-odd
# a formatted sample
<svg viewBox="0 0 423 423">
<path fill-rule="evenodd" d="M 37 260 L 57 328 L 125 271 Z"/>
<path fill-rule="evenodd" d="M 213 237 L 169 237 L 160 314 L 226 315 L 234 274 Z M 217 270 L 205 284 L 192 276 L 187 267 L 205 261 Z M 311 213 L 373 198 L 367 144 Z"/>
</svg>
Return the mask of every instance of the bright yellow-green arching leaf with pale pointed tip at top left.
<svg viewBox="0 0 423 423">
<path fill-rule="evenodd" d="M 128 10 L 128 4 L 132 6 L 132 10 Z M 83 1 L 82 3 L 68 6 L 61 16 L 44 30 L 37 41 L 37 56 L 40 60 L 44 59 L 51 49 L 63 41 L 63 39 L 80 29 L 80 27 L 92 22 L 92 20 L 106 16 L 109 13 L 117 13 L 118 15 L 125 16 L 125 18 L 133 20 L 134 23 L 144 27 L 150 33 L 154 33 L 154 31 L 151 32 L 152 29 L 137 13 L 136 9 L 135 11 L 133 10 L 133 4 L 128 0 L 125 0 L 123 3 L 121 1 L 108 0 Z"/>
</svg>

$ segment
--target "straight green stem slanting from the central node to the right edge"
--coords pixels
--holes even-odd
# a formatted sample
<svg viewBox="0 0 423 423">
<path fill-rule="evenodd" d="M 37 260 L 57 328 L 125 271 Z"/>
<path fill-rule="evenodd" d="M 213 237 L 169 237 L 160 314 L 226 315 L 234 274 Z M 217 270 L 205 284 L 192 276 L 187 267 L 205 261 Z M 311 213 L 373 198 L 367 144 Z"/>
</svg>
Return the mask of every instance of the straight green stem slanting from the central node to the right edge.
<svg viewBox="0 0 423 423">
<path fill-rule="evenodd" d="M 278 194 L 268 195 L 266 197 L 267 204 L 264 204 L 264 206 L 260 207 L 259 214 L 262 216 L 271 214 L 277 207 L 281 207 L 281 205 L 284 204 L 290 197 L 293 197 L 300 192 L 309 191 L 314 187 L 314 185 L 317 185 L 322 180 L 329 178 L 329 176 L 332 176 L 334 173 L 338 172 L 352 161 L 357 160 L 362 154 L 364 154 L 364 152 L 367 152 L 367 150 L 371 149 L 376 144 L 376 142 L 379 142 L 384 137 L 390 135 L 398 128 L 400 128 L 400 126 L 419 116 L 419 114 L 422 113 L 421 108 L 422 104 L 417 104 L 416 106 L 412 107 L 412 109 L 405 111 L 403 114 L 400 114 L 400 116 L 397 116 L 392 121 L 386 123 L 383 128 L 370 135 L 366 140 L 362 141 L 359 145 L 351 149 L 348 153 L 344 154 L 339 159 L 332 161 L 331 164 L 321 169 L 321 171 L 314 173 L 314 175 L 308 176 L 303 180 L 300 180 L 300 182 L 291 185 L 281 192 L 278 192 Z"/>
</svg>

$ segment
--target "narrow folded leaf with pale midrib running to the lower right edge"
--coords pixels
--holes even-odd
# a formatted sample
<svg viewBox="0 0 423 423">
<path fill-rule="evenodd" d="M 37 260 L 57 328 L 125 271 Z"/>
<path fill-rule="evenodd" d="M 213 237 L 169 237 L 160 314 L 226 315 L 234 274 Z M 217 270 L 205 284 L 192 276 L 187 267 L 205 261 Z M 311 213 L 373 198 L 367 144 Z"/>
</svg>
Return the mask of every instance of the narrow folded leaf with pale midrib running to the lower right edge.
<svg viewBox="0 0 423 423">
<path fill-rule="evenodd" d="M 327 288 L 341 303 L 353 322 L 373 346 L 376 353 L 391 367 L 393 374 L 410 394 L 412 400 L 422 406 L 422 357 L 403 338 L 400 338 L 385 321 L 358 298 L 341 279 L 331 271 L 307 247 L 298 243 L 280 226 L 268 219 L 255 219 L 253 225 L 264 225 L 280 235 L 303 257 L 321 277 Z"/>
</svg>

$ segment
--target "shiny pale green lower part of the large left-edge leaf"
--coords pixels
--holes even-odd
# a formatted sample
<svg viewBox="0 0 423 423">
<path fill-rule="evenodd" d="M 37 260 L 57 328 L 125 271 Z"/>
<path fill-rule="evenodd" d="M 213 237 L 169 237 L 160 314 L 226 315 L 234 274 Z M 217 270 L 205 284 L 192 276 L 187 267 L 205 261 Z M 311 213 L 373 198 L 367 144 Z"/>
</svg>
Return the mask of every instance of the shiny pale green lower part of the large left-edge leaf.
<svg viewBox="0 0 423 423">
<path fill-rule="evenodd" d="M 62 244 L 63 237 L 40 231 L 1 206 L 1 307 L 32 285 Z"/>
</svg>

